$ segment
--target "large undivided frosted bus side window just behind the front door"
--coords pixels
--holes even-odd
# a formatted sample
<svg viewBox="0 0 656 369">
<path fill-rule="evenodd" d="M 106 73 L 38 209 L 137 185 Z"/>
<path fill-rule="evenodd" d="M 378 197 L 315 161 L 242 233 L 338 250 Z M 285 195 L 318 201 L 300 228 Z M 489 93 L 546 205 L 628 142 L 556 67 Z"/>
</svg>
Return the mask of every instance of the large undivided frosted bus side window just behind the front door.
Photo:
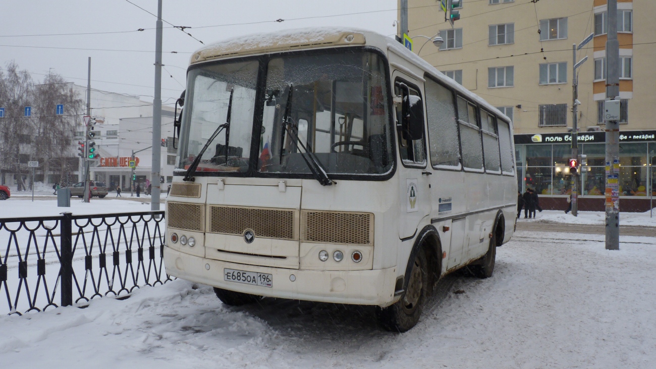
<svg viewBox="0 0 656 369">
<path fill-rule="evenodd" d="M 460 169 L 458 123 L 451 90 L 426 79 L 426 120 L 430 162 L 435 169 Z"/>
</svg>

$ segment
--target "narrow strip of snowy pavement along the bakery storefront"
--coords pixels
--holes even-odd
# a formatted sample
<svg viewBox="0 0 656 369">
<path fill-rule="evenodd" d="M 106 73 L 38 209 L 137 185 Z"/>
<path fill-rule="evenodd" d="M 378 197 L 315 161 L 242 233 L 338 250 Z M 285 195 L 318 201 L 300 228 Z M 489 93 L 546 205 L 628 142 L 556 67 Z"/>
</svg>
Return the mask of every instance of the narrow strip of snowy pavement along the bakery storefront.
<svg viewBox="0 0 656 369">
<path fill-rule="evenodd" d="M 518 219 L 519 222 L 553 222 L 577 225 L 604 225 L 604 211 L 579 211 L 577 217 L 571 213 L 565 214 L 562 210 L 544 210 L 535 213 L 535 219 Z M 649 211 L 645 213 L 619 213 L 619 225 L 631 225 L 642 227 L 656 227 L 656 209 L 653 211 L 653 217 L 649 217 Z"/>
</svg>

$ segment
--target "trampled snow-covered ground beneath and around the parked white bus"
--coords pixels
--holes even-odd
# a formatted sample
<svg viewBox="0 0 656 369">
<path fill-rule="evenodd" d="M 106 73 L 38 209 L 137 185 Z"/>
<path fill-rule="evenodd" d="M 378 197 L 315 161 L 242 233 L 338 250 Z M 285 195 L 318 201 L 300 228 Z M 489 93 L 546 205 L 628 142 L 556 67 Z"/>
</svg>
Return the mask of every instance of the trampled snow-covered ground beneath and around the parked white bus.
<svg viewBox="0 0 656 369">
<path fill-rule="evenodd" d="M 543 213 L 544 215 L 544 213 Z M 87 309 L 0 316 L 6 368 L 653 368 L 656 238 L 517 232 L 495 274 L 443 278 L 419 324 L 371 307 L 222 305 L 175 280 Z M 83 364 L 84 365 L 84 364 Z"/>
</svg>

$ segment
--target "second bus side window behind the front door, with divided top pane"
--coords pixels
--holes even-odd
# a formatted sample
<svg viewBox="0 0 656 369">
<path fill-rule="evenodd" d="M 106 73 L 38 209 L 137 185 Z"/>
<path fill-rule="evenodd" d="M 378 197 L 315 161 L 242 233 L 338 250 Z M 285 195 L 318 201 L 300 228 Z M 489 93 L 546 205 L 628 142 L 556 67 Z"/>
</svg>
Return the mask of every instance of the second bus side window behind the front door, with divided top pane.
<svg viewBox="0 0 656 369">
<path fill-rule="evenodd" d="M 457 98 L 457 104 L 462 165 L 465 169 L 482 172 L 483 148 L 478 126 L 478 109 L 462 97 Z"/>
</svg>

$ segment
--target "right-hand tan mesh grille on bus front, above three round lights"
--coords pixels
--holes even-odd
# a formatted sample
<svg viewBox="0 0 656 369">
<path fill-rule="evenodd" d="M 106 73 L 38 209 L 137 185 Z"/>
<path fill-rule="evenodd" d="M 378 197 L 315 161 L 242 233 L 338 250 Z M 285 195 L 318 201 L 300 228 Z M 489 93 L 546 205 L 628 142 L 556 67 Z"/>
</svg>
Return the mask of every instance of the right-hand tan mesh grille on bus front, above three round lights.
<svg viewBox="0 0 656 369">
<path fill-rule="evenodd" d="M 300 239 L 331 244 L 373 244 L 373 214 L 304 210 Z"/>
</svg>

